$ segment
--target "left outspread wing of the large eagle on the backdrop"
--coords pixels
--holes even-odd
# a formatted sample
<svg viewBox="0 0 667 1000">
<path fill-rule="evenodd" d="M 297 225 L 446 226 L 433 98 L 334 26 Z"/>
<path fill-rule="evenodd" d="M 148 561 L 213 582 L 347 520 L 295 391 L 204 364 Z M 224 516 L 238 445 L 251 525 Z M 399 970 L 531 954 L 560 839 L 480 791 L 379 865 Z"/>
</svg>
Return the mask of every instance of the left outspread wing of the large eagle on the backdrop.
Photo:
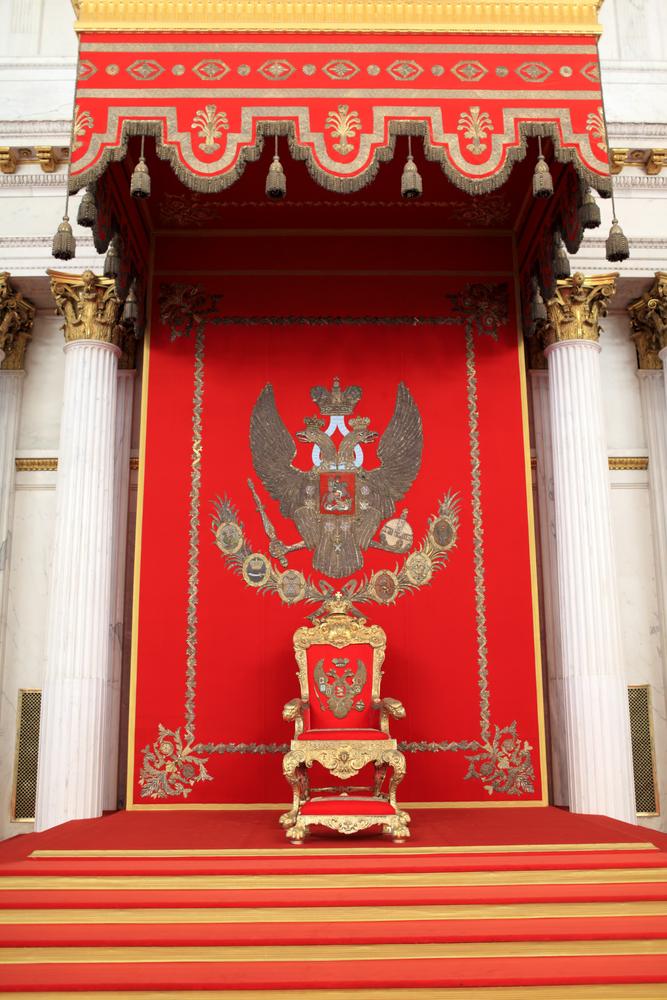
<svg viewBox="0 0 667 1000">
<path fill-rule="evenodd" d="M 295 469 L 296 444 L 276 408 L 273 386 L 264 386 L 250 417 L 250 450 L 264 488 L 280 503 L 284 517 L 301 506 L 306 473 Z"/>
</svg>

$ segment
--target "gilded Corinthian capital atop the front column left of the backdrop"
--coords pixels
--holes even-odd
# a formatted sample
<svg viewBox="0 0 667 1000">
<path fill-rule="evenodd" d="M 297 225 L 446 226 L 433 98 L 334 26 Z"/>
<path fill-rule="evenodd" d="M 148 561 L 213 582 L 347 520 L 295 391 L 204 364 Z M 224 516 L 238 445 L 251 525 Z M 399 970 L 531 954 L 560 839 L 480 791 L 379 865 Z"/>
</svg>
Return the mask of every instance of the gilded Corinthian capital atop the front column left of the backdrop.
<svg viewBox="0 0 667 1000">
<path fill-rule="evenodd" d="M 65 340 L 96 340 L 119 346 L 121 301 L 113 278 L 100 278 L 92 271 L 66 274 L 48 271 L 58 312 L 65 320 Z"/>
</svg>

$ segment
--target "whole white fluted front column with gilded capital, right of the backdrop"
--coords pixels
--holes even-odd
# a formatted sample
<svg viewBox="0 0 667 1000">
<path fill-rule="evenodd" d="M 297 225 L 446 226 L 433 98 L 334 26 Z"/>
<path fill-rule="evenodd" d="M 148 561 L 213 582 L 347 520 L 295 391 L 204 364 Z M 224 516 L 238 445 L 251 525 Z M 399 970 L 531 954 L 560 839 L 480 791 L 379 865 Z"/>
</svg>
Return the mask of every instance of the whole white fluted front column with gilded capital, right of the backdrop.
<svg viewBox="0 0 667 1000">
<path fill-rule="evenodd" d="M 559 282 L 547 307 L 562 707 L 570 809 L 636 822 L 598 319 L 613 275 Z"/>
</svg>

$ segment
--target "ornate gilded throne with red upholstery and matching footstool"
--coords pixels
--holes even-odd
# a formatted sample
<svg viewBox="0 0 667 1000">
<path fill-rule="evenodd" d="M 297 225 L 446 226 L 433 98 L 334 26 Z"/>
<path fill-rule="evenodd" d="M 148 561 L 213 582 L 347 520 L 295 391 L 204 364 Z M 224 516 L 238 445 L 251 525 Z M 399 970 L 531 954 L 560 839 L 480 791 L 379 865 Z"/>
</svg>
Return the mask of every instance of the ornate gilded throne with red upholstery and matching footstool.
<svg viewBox="0 0 667 1000">
<path fill-rule="evenodd" d="M 402 843 L 410 817 L 396 804 L 405 775 L 405 757 L 389 735 L 389 718 L 405 709 L 380 698 L 387 637 L 377 625 L 348 614 L 349 602 L 328 603 L 327 617 L 294 633 L 301 697 L 288 701 L 283 719 L 294 722 L 294 739 L 283 758 L 292 788 L 292 808 L 280 818 L 292 843 L 311 826 L 356 833 L 373 826 Z M 317 763 L 340 783 L 312 788 L 309 768 Z M 371 787 L 344 784 L 371 765 Z"/>
</svg>

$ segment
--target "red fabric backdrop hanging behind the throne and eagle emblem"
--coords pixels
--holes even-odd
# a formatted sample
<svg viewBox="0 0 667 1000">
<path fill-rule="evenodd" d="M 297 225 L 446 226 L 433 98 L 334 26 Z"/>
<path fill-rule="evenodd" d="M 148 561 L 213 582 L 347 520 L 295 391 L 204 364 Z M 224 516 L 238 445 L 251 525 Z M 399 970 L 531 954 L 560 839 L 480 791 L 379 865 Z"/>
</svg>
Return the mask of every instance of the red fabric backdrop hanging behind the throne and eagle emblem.
<svg viewBox="0 0 667 1000">
<path fill-rule="evenodd" d="M 343 237 L 341 242 L 345 250 Z M 281 720 L 281 709 L 298 695 L 292 634 L 312 608 L 261 595 L 230 572 L 214 544 L 211 515 L 214 499 L 228 494 L 254 547 L 267 551 L 246 484 L 252 477 L 279 537 L 298 541 L 294 525 L 280 516 L 254 473 L 250 414 L 271 382 L 294 434 L 304 416 L 316 412 L 311 387 L 331 385 L 335 375 L 343 386 L 362 387 L 356 413 L 369 416 L 380 433 L 392 416 L 399 382 L 417 403 L 422 466 L 399 505 L 409 509 L 416 540 L 446 491 L 456 491 L 461 500 L 458 544 L 447 567 L 395 605 L 362 608 L 388 636 L 382 693 L 400 698 L 407 709 L 404 721 L 392 723 L 408 758 L 401 799 L 541 801 L 542 706 L 509 237 L 459 240 L 455 253 L 445 245 L 438 263 L 456 270 L 438 274 L 429 273 L 432 246 L 419 240 L 401 249 L 402 266 L 413 273 L 395 276 L 380 273 L 396 263 L 387 239 L 372 246 L 367 241 L 363 249 L 348 245 L 346 256 L 337 259 L 353 271 L 355 254 L 361 254 L 376 273 L 344 276 L 324 273 L 327 251 L 317 271 L 302 266 L 295 274 L 231 277 L 233 252 L 223 243 L 183 238 L 178 258 L 173 243 L 168 249 L 158 244 L 145 384 L 130 807 L 287 798 L 280 753 L 292 726 Z M 284 262 L 287 244 L 270 244 L 257 238 L 253 260 L 268 260 L 270 253 L 269 266 L 275 267 Z M 305 260 L 309 252 L 306 245 Z M 174 259 L 187 261 L 187 274 L 178 273 Z M 224 265 L 226 274 L 212 273 Z M 172 339 L 158 319 L 161 290 L 173 291 L 179 282 L 204 293 L 199 315 L 207 308 L 210 315 L 202 336 L 193 328 L 189 336 Z M 471 282 L 493 286 L 497 300 L 506 301 L 508 319 L 484 332 L 479 322 L 485 314 L 468 301 L 466 315 L 474 314 L 477 325 L 469 324 L 466 336 L 466 315 L 454 311 L 451 297 L 459 296 L 460 305 Z M 409 319 L 413 314 L 417 323 Z M 261 319 L 289 316 L 292 321 L 279 325 Z M 309 325 L 304 317 L 320 319 Z M 430 324 L 428 317 L 437 320 Z M 198 390 L 197 370 L 203 380 Z M 200 428 L 196 405 L 193 420 L 196 390 Z M 479 466 L 471 454 L 475 442 Z M 367 468 L 376 462 L 375 448 L 365 448 Z M 301 468 L 311 466 L 310 449 L 298 445 Z M 481 522 L 475 527 L 476 490 Z M 475 544 L 481 554 L 477 575 Z M 311 571 L 307 552 L 289 561 Z M 365 569 L 393 569 L 395 563 L 394 556 L 369 550 Z"/>
</svg>

